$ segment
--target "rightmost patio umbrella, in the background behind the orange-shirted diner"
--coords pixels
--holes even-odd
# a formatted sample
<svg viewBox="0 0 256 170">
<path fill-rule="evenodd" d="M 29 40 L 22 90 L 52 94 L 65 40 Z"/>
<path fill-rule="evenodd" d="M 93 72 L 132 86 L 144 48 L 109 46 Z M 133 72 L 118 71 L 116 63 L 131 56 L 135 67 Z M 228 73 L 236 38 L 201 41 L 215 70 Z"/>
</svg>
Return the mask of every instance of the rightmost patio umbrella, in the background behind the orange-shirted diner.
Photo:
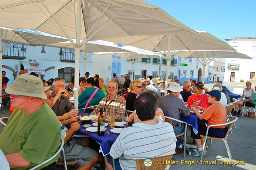
<svg viewBox="0 0 256 170">
<path fill-rule="evenodd" d="M 221 58 L 243 58 L 252 59 L 243 53 L 238 53 L 236 51 L 204 51 L 204 50 L 184 50 L 177 54 L 179 57 L 184 58 L 196 58 L 203 66 L 203 76 L 202 83 L 205 83 L 205 66 L 210 63 L 210 58 L 214 59 L 216 57 Z M 207 60 L 206 60 L 207 58 Z"/>
</svg>

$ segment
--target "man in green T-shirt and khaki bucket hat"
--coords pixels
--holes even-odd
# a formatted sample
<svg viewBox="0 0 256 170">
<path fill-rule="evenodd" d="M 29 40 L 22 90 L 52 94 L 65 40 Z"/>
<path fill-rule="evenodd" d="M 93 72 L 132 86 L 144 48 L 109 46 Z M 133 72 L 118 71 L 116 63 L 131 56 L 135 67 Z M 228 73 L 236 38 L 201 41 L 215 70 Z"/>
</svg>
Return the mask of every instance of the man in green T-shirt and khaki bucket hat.
<svg viewBox="0 0 256 170">
<path fill-rule="evenodd" d="M 50 158 L 61 144 L 61 125 L 43 101 L 46 95 L 40 78 L 22 74 L 6 88 L 15 108 L 0 133 L 0 149 L 10 168 L 27 170 Z M 40 168 L 56 162 L 59 155 Z"/>
</svg>

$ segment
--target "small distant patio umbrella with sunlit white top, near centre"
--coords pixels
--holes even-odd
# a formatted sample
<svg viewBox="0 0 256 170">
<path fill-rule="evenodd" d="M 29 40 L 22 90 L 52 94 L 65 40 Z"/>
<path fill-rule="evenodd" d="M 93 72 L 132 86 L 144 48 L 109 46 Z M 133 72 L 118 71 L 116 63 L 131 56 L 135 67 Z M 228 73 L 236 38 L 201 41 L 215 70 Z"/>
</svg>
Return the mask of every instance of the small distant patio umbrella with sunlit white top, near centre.
<svg viewBox="0 0 256 170">
<path fill-rule="evenodd" d="M 101 52 L 101 53 L 94 53 L 94 55 L 115 55 L 115 56 L 127 58 L 132 63 L 131 80 L 133 80 L 133 78 L 134 78 L 134 75 L 133 75 L 134 63 L 136 63 L 138 61 L 138 59 L 140 59 L 140 58 L 161 58 L 161 54 L 153 53 L 152 51 L 144 50 L 141 48 L 132 47 L 132 46 L 124 46 L 121 48 L 125 49 L 125 50 L 132 51 L 133 53 L 118 53 L 118 52 L 104 53 L 104 52 Z"/>
</svg>

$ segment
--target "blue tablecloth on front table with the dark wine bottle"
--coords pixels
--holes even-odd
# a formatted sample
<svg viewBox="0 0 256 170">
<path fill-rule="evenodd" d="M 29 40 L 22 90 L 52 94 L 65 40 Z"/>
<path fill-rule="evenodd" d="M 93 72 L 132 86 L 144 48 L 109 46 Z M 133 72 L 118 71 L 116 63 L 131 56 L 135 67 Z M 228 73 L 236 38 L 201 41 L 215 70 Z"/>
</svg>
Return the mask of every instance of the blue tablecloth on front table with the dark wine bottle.
<svg viewBox="0 0 256 170">
<path fill-rule="evenodd" d="M 88 113 L 80 113 L 81 116 L 84 116 L 84 115 L 88 115 Z M 98 133 L 95 132 L 95 133 L 92 133 L 92 132 L 87 132 L 83 127 L 82 127 L 82 124 L 81 124 L 81 121 L 79 122 L 80 124 L 80 129 L 77 130 L 74 135 L 77 135 L 77 136 L 89 136 L 91 138 L 93 138 L 96 142 L 98 142 L 100 144 L 100 148 L 101 148 L 101 152 L 103 154 L 103 156 L 106 156 L 108 155 L 109 151 L 110 151 L 110 148 L 112 146 L 112 144 L 115 142 L 115 140 L 117 139 L 117 137 L 115 137 L 114 135 L 112 134 L 108 134 L 106 131 L 110 132 L 110 127 L 108 125 L 107 127 L 107 130 L 105 131 L 105 134 L 104 136 L 98 136 Z M 90 124 L 91 121 L 90 121 Z M 69 129 L 71 127 L 70 124 L 66 125 L 67 129 Z M 116 134 L 114 133 L 116 136 L 118 136 L 119 134 Z"/>
</svg>

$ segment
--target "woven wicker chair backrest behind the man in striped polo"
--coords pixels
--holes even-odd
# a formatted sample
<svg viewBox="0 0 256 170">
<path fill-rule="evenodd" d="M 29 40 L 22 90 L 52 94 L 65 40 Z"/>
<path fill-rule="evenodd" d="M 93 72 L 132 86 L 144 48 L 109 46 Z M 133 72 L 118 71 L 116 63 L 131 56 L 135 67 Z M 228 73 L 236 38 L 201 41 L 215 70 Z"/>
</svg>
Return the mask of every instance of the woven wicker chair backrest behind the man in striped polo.
<svg viewBox="0 0 256 170">
<path fill-rule="evenodd" d="M 172 159 L 173 155 L 167 155 L 167 156 L 163 156 L 163 157 L 155 157 L 155 158 L 150 158 L 152 160 L 152 165 L 150 167 L 146 167 L 144 165 L 144 160 L 136 160 L 137 163 L 137 170 L 165 170 L 165 168 L 167 167 L 167 163 L 163 163 L 164 161 L 170 161 Z M 160 162 L 159 160 L 161 160 L 162 163 L 158 164 L 158 162 Z"/>
</svg>

